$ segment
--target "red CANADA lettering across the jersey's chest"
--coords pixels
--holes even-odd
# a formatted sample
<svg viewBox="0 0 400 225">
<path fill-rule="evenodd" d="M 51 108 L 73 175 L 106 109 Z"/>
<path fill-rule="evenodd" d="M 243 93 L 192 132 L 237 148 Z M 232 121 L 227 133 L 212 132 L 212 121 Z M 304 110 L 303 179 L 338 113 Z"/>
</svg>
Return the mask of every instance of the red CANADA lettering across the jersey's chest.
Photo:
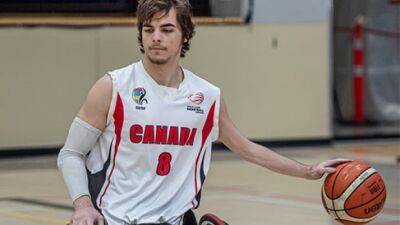
<svg viewBox="0 0 400 225">
<path fill-rule="evenodd" d="M 133 143 L 158 145 L 193 145 L 196 128 L 134 124 L 130 129 Z"/>
</svg>

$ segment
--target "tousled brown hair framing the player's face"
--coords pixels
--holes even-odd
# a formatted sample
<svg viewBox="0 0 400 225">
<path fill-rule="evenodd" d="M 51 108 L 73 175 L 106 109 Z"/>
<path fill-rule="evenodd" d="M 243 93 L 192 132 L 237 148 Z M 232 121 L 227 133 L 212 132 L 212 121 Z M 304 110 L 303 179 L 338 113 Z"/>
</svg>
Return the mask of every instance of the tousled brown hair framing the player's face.
<svg viewBox="0 0 400 225">
<path fill-rule="evenodd" d="M 144 53 L 142 42 L 143 24 L 150 22 L 153 16 L 158 12 L 167 14 L 172 7 L 176 11 L 176 19 L 182 28 L 182 50 L 181 57 L 185 57 L 186 51 L 190 49 L 190 39 L 192 39 L 195 31 L 192 22 L 192 6 L 188 0 L 139 0 L 136 15 L 138 18 L 138 41 L 140 51 Z"/>
</svg>

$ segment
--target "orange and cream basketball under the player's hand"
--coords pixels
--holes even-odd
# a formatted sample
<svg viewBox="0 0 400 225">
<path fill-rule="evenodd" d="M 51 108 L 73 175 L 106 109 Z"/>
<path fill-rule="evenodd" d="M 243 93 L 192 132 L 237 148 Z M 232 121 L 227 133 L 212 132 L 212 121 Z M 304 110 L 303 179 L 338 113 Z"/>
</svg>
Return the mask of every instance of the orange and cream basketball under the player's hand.
<svg viewBox="0 0 400 225">
<path fill-rule="evenodd" d="M 340 164 L 325 178 L 322 203 L 326 211 L 346 225 L 365 224 L 375 219 L 386 200 L 381 175 L 365 162 Z"/>
</svg>

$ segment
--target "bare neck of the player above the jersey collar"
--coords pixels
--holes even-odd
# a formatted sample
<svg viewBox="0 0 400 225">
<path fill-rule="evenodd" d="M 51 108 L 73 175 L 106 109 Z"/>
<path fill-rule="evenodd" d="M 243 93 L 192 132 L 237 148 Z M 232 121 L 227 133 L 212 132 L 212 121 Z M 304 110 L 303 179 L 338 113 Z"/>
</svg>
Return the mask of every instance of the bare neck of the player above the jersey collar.
<svg viewBox="0 0 400 225">
<path fill-rule="evenodd" d="M 142 61 L 146 72 L 159 85 L 174 88 L 179 87 L 179 84 L 183 80 L 183 74 L 178 62 L 171 61 L 166 64 L 154 64 L 146 57 Z"/>
</svg>

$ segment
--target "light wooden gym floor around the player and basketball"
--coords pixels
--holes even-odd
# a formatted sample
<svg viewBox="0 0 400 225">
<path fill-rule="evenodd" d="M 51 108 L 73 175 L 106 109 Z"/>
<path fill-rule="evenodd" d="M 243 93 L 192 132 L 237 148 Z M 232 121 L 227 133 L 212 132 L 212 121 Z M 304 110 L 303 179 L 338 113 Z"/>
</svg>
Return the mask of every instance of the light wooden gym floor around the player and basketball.
<svg viewBox="0 0 400 225">
<path fill-rule="evenodd" d="M 399 144 L 277 149 L 304 163 L 332 157 L 363 159 L 384 177 L 388 197 L 371 225 L 400 224 Z M 212 212 L 230 225 L 334 225 L 321 200 L 322 180 L 275 174 L 215 151 L 197 215 Z M 0 225 L 65 225 L 72 212 L 56 157 L 0 159 Z"/>
</svg>

